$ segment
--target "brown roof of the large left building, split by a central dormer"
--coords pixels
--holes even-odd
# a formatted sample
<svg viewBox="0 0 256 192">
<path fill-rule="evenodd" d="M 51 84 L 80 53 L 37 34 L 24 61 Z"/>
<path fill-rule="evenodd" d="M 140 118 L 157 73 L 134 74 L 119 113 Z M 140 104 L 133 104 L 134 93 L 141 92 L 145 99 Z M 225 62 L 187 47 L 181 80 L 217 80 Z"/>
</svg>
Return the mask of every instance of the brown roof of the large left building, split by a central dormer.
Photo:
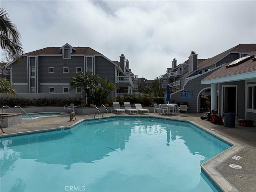
<svg viewBox="0 0 256 192">
<path fill-rule="evenodd" d="M 95 50 L 93 50 L 90 47 L 74 47 L 76 50 L 74 50 L 71 55 L 76 55 L 76 54 L 82 54 L 82 55 L 97 55 L 101 54 Z M 28 52 L 25 55 L 61 55 L 62 50 L 60 50 L 60 47 L 46 47 L 40 50 Z"/>
</svg>

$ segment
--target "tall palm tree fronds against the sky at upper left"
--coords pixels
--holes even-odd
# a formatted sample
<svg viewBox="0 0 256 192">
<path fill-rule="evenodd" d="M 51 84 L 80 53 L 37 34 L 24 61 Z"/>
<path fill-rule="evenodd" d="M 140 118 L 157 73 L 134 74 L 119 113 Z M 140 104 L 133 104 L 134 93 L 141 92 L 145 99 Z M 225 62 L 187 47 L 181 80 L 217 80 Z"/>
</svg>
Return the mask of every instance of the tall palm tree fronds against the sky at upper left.
<svg viewBox="0 0 256 192">
<path fill-rule="evenodd" d="M 20 61 L 20 56 L 24 54 L 22 48 L 21 35 L 17 27 L 10 20 L 6 10 L 0 8 L 0 31 L 1 48 L 12 60 Z"/>
</svg>

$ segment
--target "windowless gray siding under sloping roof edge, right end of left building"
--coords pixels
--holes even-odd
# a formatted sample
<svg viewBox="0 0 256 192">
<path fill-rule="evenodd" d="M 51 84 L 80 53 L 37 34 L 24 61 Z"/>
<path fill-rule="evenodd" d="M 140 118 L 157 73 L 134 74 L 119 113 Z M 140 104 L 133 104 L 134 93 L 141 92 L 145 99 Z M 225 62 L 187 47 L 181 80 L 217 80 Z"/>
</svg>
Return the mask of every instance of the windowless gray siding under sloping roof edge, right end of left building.
<svg viewBox="0 0 256 192">
<path fill-rule="evenodd" d="M 95 74 L 99 74 L 115 82 L 115 65 L 102 56 L 95 57 Z"/>
</svg>

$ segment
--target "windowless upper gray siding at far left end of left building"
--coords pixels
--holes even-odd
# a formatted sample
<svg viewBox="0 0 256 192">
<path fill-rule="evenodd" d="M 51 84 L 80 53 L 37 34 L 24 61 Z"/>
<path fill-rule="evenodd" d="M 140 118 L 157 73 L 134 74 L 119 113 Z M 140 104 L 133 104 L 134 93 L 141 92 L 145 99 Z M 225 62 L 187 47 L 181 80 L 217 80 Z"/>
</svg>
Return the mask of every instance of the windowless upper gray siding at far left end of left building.
<svg viewBox="0 0 256 192">
<path fill-rule="evenodd" d="M 27 58 L 20 65 L 14 63 L 11 67 L 12 82 L 28 83 Z"/>
</svg>

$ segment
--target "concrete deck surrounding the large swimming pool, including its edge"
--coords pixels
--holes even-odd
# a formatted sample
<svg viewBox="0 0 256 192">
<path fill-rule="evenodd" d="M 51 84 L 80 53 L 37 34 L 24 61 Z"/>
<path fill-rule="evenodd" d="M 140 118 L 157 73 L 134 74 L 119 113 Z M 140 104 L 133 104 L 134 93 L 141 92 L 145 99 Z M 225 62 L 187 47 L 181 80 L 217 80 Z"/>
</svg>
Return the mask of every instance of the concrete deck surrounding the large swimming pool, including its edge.
<svg viewBox="0 0 256 192">
<path fill-rule="evenodd" d="M 202 113 L 189 113 L 181 115 L 162 115 L 162 114 L 104 114 L 104 117 L 109 116 L 152 116 L 161 118 L 170 118 L 176 120 L 188 120 L 196 124 L 208 132 L 235 144 L 232 148 L 215 156 L 211 160 L 202 164 L 202 169 L 206 174 L 209 174 L 214 182 L 220 185 L 224 192 L 255 192 L 256 191 L 256 127 L 243 127 L 238 125 L 238 119 L 234 128 L 224 127 L 224 125 L 212 124 L 209 121 L 201 120 Z M 96 118 L 100 118 L 99 115 Z M 8 128 L 3 128 L 5 133 L 1 132 L 2 136 L 20 134 L 24 132 L 35 132 L 39 130 L 48 130 L 66 126 L 72 126 L 84 119 L 92 119 L 90 115 L 76 114 L 75 121 L 70 122 L 69 115 L 42 117 L 37 119 L 22 119 L 22 124 L 14 125 Z M 255 122 L 254 122 L 255 124 Z M 240 156 L 239 160 L 233 159 L 234 156 Z M 230 168 L 230 164 L 242 166 L 242 169 Z"/>
</svg>

